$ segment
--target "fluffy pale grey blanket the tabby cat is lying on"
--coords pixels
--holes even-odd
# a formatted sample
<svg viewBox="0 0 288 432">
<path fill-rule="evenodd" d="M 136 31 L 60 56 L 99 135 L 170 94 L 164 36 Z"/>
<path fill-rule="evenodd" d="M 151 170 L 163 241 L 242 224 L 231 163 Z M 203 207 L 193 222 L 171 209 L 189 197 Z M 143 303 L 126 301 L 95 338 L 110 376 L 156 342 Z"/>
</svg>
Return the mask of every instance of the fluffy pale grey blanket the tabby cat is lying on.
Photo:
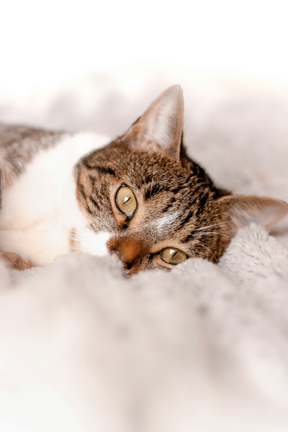
<svg viewBox="0 0 288 432">
<path fill-rule="evenodd" d="M 219 186 L 287 202 L 284 84 L 118 70 L 49 98 L 2 98 L 0 120 L 113 136 L 174 83 L 190 156 Z M 252 225 L 218 265 L 130 279 L 115 257 L 24 272 L 0 262 L 0 429 L 286 431 L 288 219 L 271 234 Z"/>
</svg>

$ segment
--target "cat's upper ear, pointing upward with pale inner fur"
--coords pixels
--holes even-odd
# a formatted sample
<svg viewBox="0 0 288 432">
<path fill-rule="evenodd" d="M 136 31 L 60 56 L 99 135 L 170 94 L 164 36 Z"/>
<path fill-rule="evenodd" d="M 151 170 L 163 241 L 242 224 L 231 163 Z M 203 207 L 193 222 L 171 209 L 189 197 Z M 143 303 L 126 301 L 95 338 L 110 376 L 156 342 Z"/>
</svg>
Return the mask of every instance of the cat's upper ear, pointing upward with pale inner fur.
<svg viewBox="0 0 288 432">
<path fill-rule="evenodd" d="M 184 101 L 179 86 L 168 87 L 123 136 L 133 148 L 165 151 L 179 159 Z"/>
</svg>

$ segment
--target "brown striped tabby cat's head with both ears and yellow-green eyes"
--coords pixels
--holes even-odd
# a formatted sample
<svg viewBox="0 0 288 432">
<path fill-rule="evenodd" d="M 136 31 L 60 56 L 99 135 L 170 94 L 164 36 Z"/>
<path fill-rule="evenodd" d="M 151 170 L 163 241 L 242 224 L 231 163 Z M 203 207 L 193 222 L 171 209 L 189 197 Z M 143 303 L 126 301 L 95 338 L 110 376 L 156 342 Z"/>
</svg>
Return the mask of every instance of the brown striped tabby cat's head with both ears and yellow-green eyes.
<svg viewBox="0 0 288 432">
<path fill-rule="evenodd" d="M 169 87 L 124 135 L 78 165 L 77 197 L 90 228 L 129 274 L 189 257 L 217 262 L 239 227 L 269 228 L 288 212 L 281 200 L 217 188 L 187 156 L 183 113 L 180 87 Z"/>
</svg>

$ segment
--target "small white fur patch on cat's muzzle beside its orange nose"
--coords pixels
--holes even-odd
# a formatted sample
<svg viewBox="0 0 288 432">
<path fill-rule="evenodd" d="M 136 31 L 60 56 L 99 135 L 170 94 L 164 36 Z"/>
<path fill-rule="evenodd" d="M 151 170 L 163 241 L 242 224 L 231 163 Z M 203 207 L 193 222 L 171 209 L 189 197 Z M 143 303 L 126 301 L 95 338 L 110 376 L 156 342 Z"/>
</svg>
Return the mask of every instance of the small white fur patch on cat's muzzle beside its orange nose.
<svg viewBox="0 0 288 432">
<path fill-rule="evenodd" d="M 96 233 L 92 229 L 86 228 L 82 232 L 78 232 L 78 237 L 83 252 L 98 257 L 104 257 L 104 255 L 108 254 L 106 243 L 111 237 L 109 232 Z"/>
</svg>

